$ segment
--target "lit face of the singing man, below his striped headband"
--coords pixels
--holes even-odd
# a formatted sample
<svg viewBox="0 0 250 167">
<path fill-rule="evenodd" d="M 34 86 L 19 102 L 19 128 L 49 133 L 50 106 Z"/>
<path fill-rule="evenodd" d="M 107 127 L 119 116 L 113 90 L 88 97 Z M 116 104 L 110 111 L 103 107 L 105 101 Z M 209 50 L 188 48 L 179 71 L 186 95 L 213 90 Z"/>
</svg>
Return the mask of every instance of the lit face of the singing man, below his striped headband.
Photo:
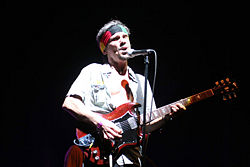
<svg viewBox="0 0 250 167">
<path fill-rule="evenodd" d="M 125 32 L 117 32 L 109 39 L 105 53 L 108 56 L 108 61 L 126 61 L 130 56 L 127 51 L 131 49 L 128 34 Z"/>
</svg>

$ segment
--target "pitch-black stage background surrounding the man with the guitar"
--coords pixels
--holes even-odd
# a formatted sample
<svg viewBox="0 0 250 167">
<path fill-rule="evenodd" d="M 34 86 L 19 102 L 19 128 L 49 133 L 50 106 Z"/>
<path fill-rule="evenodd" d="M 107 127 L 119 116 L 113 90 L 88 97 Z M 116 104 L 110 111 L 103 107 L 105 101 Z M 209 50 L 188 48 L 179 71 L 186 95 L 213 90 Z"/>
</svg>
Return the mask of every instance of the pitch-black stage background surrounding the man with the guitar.
<svg viewBox="0 0 250 167">
<path fill-rule="evenodd" d="M 241 86 L 241 7 L 235 3 L 93 1 L 70 8 L 72 4 L 3 2 L 0 166 L 63 166 L 75 127 L 61 105 L 80 70 L 102 62 L 95 36 L 110 19 L 131 29 L 133 48 L 157 51 L 158 107 L 212 88 L 225 77 Z M 142 57 L 129 65 L 143 74 Z M 153 68 L 150 58 L 151 83 Z M 249 109 L 240 93 L 230 102 L 215 97 L 190 106 L 153 132 L 147 149 L 152 163 L 249 166 Z"/>
</svg>

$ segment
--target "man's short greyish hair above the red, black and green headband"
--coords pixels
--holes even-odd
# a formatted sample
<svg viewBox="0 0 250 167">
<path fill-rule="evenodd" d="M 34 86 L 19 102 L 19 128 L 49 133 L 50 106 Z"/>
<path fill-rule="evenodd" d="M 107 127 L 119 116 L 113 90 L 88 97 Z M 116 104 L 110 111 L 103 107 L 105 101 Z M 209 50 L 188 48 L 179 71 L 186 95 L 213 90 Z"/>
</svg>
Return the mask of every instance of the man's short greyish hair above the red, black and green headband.
<svg viewBox="0 0 250 167">
<path fill-rule="evenodd" d="M 129 29 L 128 29 L 128 27 L 127 27 L 125 24 L 123 24 L 123 23 L 122 23 L 121 21 L 119 21 L 119 20 L 111 20 L 111 21 L 109 21 L 108 23 L 106 23 L 106 24 L 99 30 L 99 32 L 97 33 L 97 35 L 96 35 L 96 41 L 97 41 L 98 46 L 99 46 L 100 40 L 101 40 L 101 38 L 102 38 L 102 35 L 103 35 L 110 27 L 112 27 L 112 26 L 114 26 L 114 25 L 122 25 L 122 26 L 127 30 L 128 35 L 130 35 Z"/>
</svg>

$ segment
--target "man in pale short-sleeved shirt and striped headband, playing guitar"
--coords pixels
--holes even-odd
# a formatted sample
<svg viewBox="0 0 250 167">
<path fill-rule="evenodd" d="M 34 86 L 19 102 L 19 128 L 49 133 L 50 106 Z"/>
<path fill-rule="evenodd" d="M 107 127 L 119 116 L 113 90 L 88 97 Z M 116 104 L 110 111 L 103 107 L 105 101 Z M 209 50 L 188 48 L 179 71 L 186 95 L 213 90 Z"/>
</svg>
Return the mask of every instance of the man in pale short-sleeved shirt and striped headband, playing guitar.
<svg viewBox="0 0 250 167">
<path fill-rule="evenodd" d="M 128 66 L 128 50 L 131 49 L 129 29 L 120 21 L 112 20 L 105 24 L 97 34 L 97 42 L 106 63 L 90 64 L 84 67 L 72 84 L 63 108 L 68 111 L 82 127 L 101 132 L 104 140 L 121 138 L 123 130 L 100 114 L 111 113 L 118 106 L 128 102 L 143 102 L 144 77 L 135 74 Z M 150 112 L 152 91 L 148 83 L 146 111 Z M 153 101 L 153 109 L 156 109 Z M 172 106 L 173 111 L 185 109 L 181 104 Z M 141 108 L 139 108 L 141 112 Z M 162 121 L 154 121 L 154 125 Z M 150 127 L 156 126 L 148 126 Z M 76 142 L 77 143 L 77 142 Z M 90 145 L 89 147 L 91 147 Z M 84 159 L 84 147 L 70 147 L 65 157 L 65 166 L 94 166 Z M 124 147 L 116 157 L 114 166 L 140 166 L 139 144 Z"/>
</svg>

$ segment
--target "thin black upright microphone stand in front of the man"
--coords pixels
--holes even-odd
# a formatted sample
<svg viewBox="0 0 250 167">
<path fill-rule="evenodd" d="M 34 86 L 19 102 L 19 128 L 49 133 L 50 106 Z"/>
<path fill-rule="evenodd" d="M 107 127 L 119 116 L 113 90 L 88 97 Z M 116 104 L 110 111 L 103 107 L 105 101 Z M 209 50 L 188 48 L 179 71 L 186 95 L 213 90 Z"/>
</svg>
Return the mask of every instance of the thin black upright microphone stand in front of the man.
<svg viewBox="0 0 250 167">
<path fill-rule="evenodd" d="M 145 85 L 144 85 L 144 102 L 143 102 L 143 124 L 142 124 L 142 167 L 145 166 L 145 153 L 146 153 L 146 106 L 147 106 L 147 81 L 148 81 L 148 54 L 144 57 L 145 64 Z"/>
</svg>

